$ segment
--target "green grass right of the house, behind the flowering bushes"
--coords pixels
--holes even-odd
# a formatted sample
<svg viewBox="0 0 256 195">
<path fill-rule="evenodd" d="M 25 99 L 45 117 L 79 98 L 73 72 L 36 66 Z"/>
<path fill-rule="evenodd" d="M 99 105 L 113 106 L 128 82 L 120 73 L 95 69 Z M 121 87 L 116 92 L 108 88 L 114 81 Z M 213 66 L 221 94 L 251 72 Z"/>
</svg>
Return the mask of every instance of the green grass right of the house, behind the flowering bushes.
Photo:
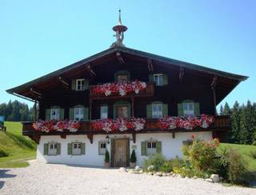
<svg viewBox="0 0 256 195">
<path fill-rule="evenodd" d="M 256 152 L 256 145 L 239 145 L 239 144 L 224 144 L 220 145 L 220 148 L 231 148 L 238 153 L 242 154 L 242 157 L 248 164 L 250 172 L 256 173 L 256 159 L 250 156 L 250 152 Z"/>
</svg>

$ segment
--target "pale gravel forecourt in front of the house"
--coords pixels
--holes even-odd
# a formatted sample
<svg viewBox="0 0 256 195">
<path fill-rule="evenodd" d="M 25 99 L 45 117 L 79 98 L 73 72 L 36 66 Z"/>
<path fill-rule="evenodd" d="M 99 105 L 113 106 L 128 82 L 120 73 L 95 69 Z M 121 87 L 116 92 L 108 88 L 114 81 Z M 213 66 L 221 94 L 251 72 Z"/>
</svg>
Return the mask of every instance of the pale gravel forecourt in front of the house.
<svg viewBox="0 0 256 195">
<path fill-rule="evenodd" d="M 8 170 L 8 171 L 6 171 Z M 224 187 L 199 179 L 157 177 L 31 161 L 20 169 L 0 169 L 0 194 L 256 194 L 256 189 Z"/>
</svg>

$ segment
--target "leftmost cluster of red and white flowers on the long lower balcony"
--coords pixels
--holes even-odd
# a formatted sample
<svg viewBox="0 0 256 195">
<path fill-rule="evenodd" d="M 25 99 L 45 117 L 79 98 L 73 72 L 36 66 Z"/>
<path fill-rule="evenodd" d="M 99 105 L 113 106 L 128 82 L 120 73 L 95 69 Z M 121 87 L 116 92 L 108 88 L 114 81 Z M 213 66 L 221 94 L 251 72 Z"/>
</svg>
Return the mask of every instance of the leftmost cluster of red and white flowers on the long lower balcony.
<svg viewBox="0 0 256 195">
<path fill-rule="evenodd" d="M 33 123 L 33 128 L 37 131 L 49 133 L 50 131 L 64 131 L 68 130 L 70 132 L 78 131 L 80 127 L 79 121 L 36 121 Z"/>
</svg>

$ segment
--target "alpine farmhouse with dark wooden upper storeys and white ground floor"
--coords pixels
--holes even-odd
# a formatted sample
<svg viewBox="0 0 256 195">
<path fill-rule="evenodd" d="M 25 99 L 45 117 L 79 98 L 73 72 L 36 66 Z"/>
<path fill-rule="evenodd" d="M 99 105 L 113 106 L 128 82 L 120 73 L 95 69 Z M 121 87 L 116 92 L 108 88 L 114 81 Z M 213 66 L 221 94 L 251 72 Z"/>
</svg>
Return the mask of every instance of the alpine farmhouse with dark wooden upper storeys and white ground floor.
<svg viewBox="0 0 256 195">
<path fill-rule="evenodd" d="M 209 140 L 230 129 L 216 105 L 245 76 L 133 50 L 123 45 L 120 14 L 109 49 L 7 90 L 34 101 L 34 121 L 22 133 L 38 143 L 48 163 L 136 165 L 154 153 L 182 156 L 192 135 Z"/>
</svg>

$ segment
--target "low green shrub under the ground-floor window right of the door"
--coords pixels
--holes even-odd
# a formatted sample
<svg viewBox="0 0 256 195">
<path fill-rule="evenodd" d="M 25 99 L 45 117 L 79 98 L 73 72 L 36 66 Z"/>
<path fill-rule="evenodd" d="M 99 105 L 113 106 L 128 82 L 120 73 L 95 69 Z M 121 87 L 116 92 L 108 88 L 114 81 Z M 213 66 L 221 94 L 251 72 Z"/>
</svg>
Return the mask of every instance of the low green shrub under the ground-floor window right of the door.
<svg viewBox="0 0 256 195">
<path fill-rule="evenodd" d="M 150 165 L 154 165 L 154 171 L 160 171 L 161 167 L 166 166 L 166 157 L 162 153 L 151 155 L 143 162 L 143 167 L 146 169 Z"/>
</svg>

